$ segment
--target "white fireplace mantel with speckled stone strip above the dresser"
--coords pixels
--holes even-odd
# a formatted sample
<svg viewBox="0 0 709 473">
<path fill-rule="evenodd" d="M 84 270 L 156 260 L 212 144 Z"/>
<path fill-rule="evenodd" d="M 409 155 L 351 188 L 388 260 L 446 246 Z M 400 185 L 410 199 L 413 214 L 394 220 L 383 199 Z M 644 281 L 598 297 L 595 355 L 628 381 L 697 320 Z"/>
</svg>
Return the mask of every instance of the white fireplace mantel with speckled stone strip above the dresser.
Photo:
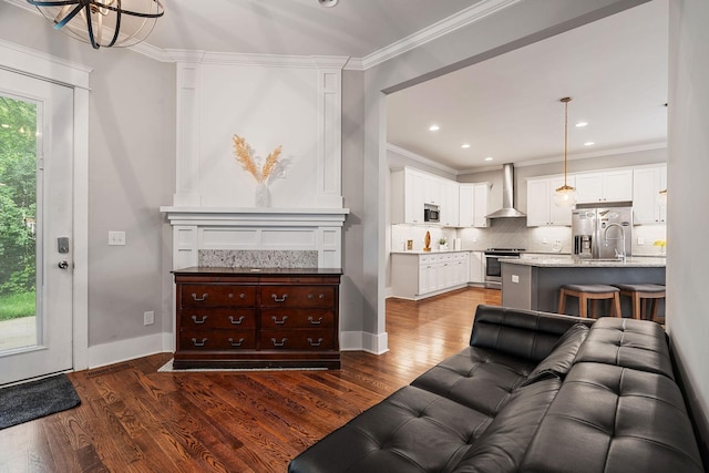
<svg viewBox="0 0 709 473">
<path fill-rule="evenodd" d="M 265 267 L 269 261 L 277 267 L 342 267 L 348 208 L 169 206 L 160 210 L 173 227 L 173 269 L 201 264 Z"/>
</svg>

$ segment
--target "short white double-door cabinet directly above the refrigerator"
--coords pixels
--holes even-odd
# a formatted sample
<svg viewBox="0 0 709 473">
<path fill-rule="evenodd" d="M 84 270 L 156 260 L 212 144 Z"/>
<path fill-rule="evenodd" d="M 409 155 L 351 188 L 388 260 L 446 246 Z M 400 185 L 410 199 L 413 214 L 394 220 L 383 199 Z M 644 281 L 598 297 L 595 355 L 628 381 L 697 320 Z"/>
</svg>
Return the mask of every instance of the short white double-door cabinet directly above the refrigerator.
<svg viewBox="0 0 709 473">
<path fill-rule="evenodd" d="M 633 199 L 633 169 L 576 174 L 579 204 Z"/>
</svg>

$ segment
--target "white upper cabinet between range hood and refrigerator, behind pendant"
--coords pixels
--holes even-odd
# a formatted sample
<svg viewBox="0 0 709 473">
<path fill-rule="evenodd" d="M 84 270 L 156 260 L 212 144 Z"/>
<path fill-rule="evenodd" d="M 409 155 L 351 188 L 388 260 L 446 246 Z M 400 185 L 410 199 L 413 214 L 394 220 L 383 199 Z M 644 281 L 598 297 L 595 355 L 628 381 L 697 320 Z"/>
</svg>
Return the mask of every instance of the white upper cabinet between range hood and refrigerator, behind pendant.
<svg viewBox="0 0 709 473">
<path fill-rule="evenodd" d="M 567 176 L 566 184 L 575 186 L 575 177 Z M 571 226 L 572 208 L 554 204 L 554 193 L 563 185 L 564 176 L 527 179 L 527 227 Z"/>
</svg>

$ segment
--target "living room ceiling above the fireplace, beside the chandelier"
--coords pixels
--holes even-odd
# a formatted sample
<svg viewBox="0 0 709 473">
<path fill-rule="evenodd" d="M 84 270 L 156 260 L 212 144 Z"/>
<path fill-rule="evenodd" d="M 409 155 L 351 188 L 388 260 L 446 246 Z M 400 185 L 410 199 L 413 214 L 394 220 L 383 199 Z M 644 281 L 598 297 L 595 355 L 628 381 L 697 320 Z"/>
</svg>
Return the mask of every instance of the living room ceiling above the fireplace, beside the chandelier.
<svg viewBox="0 0 709 473">
<path fill-rule="evenodd" d="M 364 58 L 480 0 L 163 1 L 148 40 L 157 48 Z"/>
</svg>

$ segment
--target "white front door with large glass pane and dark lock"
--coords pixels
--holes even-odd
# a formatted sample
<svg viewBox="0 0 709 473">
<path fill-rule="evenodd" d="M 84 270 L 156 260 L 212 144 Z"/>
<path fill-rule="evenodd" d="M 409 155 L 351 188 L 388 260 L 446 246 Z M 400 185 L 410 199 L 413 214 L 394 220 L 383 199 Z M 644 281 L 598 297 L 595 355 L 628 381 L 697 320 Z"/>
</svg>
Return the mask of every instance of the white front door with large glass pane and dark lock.
<svg viewBox="0 0 709 473">
<path fill-rule="evenodd" d="M 72 368 L 73 90 L 0 70 L 0 385 Z"/>
</svg>

